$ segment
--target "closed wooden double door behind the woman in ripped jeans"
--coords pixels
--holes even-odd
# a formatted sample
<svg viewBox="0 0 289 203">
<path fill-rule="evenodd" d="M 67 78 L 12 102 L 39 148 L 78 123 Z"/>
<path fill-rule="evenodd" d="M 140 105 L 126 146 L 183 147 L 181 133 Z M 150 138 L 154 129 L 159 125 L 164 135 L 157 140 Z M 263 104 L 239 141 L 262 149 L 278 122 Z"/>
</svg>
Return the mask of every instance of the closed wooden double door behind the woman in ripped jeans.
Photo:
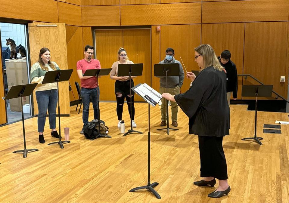
<svg viewBox="0 0 289 203">
<path fill-rule="evenodd" d="M 135 85 L 147 83 L 151 85 L 151 30 L 128 29 L 128 30 L 96 30 L 95 31 L 96 58 L 101 63 L 101 68 L 111 68 L 118 60 L 117 51 L 123 47 L 127 51 L 129 60 L 133 63 L 143 63 L 143 75 L 134 79 Z M 100 100 L 116 101 L 114 93 L 115 80 L 110 76 L 99 79 Z M 135 96 L 135 101 L 143 101 Z"/>
</svg>

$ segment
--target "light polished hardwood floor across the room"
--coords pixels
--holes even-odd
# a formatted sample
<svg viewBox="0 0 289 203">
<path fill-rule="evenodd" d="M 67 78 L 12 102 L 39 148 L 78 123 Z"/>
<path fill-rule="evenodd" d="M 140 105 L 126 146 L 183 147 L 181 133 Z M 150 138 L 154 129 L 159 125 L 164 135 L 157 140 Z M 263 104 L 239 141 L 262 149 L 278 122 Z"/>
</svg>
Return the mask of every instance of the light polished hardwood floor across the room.
<svg viewBox="0 0 289 203">
<path fill-rule="evenodd" d="M 135 130 L 144 134 L 126 137 L 117 128 L 116 103 L 100 103 L 100 108 L 112 138 L 86 140 L 79 134 L 82 114 L 74 106 L 70 117 L 61 117 L 61 128 L 70 128 L 71 143 L 64 149 L 47 146 L 57 141 L 49 135 L 48 119 L 45 144 L 38 142 L 37 118 L 25 120 L 27 149 L 39 149 L 27 158 L 12 153 L 23 149 L 22 122 L 1 127 L 0 202 L 289 202 L 289 125 L 281 125 L 282 134 L 263 134 L 263 124 L 288 121 L 285 113 L 258 112 L 260 146 L 241 140 L 253 136 L 255 112 L 231 105 L 230 135 L 223 141 L 231 192 L 211 199 L 207 194 L 215 188 L 193 185 L 200 180 L 200 158 L 198 138 L 188 134 L 188 118 L 179 110 L 179 131 L 167 135 L 156 130 L 160 107 L 151 107 L 151 183 L 159 183 L 158 200 L 147 191 L 129 192 L 148 181 L 148 104 L 135 104 Z M 126 104 L 123 118 L 128 130 Z"/>
</svg>

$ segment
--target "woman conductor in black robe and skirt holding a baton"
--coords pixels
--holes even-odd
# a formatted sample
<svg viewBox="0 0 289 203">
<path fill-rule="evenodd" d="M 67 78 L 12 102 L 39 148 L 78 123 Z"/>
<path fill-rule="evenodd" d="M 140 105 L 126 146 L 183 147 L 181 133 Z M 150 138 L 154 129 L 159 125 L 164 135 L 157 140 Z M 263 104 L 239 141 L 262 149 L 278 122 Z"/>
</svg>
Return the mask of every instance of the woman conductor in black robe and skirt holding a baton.
<svg viewBox="0 0 289 203">
<path fill-rule="evenodd" d="M 189 117 L 189 133 L 198 135 L 200 150 L 200 177 L 197 186 L 214 186 L 217 189 L 208 197 L 228 195 L 227 163 L 222 147 L 223 137 L 229 134 L 230 110 L 226 94 L 226 75 L 222 71 L 213 48 L 203 44 L 195 48 L 195 61 L 200 66 L 196 77 L 187 73 L 192 80 L 191 88 L 183 94 L 163 93 L 163 97 L 176 101 Z"/>
</svg>

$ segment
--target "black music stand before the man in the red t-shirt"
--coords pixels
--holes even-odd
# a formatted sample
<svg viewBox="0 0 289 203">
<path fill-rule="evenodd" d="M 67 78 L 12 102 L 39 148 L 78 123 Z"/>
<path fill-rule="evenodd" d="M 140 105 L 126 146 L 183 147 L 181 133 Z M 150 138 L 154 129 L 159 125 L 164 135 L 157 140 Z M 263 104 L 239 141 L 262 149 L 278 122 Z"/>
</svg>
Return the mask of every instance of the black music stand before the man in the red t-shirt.
<svg viewBox="0 0 289 203">
<path fill-rule="evenodd" d="M 110 71 L 112 70 L 112 68 L 105 68 L 105 69 L 89 69 L 86 70 L 85 73 L 83 74 L 83 76 L 96 76 L 96 82 L 98 84 L 99 87 L 99 83 L 98 83 L 98 76 L 99 75 L 108 75 L 110 73 Z M 98 93 L 97 93 L 98 95 Z M 103 135 L 100 134 L 100 111 L 99 111 L 99 97 L 97 96 L 97 108 L 98 108 L 98 134 L 96 137 L 92 138 L 91 140 L 94 140 L 98 137 L 110 137 L 109 135 Z"/>
</svg>

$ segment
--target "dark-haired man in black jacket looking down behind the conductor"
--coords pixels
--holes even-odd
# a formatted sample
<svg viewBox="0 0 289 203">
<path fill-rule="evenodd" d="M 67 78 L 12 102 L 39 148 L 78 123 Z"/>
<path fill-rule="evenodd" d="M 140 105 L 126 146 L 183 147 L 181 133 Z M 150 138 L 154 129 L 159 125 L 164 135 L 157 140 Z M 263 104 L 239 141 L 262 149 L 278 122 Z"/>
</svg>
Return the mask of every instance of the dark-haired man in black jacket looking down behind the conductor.
<svg viewBox="0 0 289 203">
<path fill-rule="evenodd" d="M 231 53 L 229 50 L 224 50 L 220 57 L 218 57 L 221 65 L 224 67 L 227 75 L 227 99 L 230 106 L 230 98 L 233 93 L 234 100 L 237 99 L 238 92 L 238 75 L 235 63 L 230 60 Z"/>
</svg>

